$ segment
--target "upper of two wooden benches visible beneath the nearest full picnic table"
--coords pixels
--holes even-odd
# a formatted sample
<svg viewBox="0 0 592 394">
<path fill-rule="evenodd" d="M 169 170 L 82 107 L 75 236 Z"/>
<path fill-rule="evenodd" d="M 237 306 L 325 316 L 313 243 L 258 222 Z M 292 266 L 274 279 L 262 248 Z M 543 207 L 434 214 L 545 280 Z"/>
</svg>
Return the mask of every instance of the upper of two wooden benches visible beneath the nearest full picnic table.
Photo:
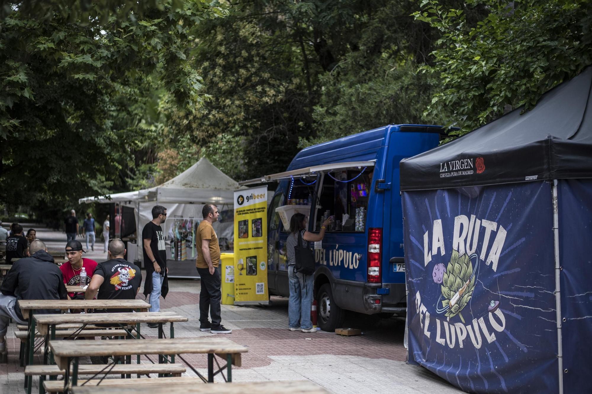
<svg viewBox="0 0 592 394">
<path fill-rule="evenodd" d="M 107 367 L 105 369 L 105 367 Z M 78 374 L 94 375 L 96 373 L 109 374 L 150 374 L 150 373 L 169 373 L 175 377 L 181 377 L 186 372 L 182 364 L 115 364 L 111 369 L 108 364 L 83 364 L 78 366 Z M 57 365 L 30 365 L 25 368 L 25 376 L 60 376 L 66 371 L 59 369 Z M 70 368 L 72 373 L 72 368 Z M 63 381 L 62 381 L 63 387 Z"/>
</svg>

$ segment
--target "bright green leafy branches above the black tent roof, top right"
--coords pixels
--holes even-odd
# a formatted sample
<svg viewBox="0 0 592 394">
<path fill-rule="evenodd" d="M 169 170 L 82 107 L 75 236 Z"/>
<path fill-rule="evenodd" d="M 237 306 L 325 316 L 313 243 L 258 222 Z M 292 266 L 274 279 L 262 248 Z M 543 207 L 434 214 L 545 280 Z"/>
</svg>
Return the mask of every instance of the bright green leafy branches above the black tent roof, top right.
<svg viewBox="0 0 592 394">
<path fill-rule="evenodd" d="M 485 15 L 435 0 L 414 13 L 442 33 L 434 64 L 423 72 L 439 77 L 426 116 L 448 115 L 462 135 L 503 114 L 530 109 L 540 96 L 592 64 L 592 4 L 587 0 L 495 0 L 467 2 Z"/>
</svg>

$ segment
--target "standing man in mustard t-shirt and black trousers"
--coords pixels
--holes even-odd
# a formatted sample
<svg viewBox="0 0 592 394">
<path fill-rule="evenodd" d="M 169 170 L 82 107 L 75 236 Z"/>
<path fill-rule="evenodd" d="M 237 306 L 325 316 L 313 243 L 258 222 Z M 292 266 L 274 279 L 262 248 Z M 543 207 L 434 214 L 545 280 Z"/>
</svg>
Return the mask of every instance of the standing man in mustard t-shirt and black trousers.
<svg viewBox="0 0 592 394">
<path fill-rule="evenodd" d="M 197 247 L 197 272 L 200 274 L 200 331 L 211 331 L 213 334 L 230 334 L 232 330 L 220 324 L 220 245 L 212 224 L 218 221 L 218 207 L 206 204 L 201 210 L 204 220 L 195 232 Z M 208 309 L 212 322 L 208 321 Z"/>
</svg>

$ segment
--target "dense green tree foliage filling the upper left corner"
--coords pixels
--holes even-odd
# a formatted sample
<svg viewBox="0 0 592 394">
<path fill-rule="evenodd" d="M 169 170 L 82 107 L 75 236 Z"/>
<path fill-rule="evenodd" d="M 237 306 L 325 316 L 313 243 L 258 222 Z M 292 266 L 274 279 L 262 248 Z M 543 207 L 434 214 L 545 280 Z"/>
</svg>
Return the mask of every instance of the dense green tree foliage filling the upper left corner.
<svg viewBox="0 0 592 394">
<path fill-rule="evenodd" d="M 224 11 L 207 0 L 147 2 L 137 15 L 135 2 L 30 4 L 0 22 L 0 200 L 104 193 L 160 140 L 146 122 L 155 95 L 178 108 L 201 102 L 187 45 Z"/>
</svg>

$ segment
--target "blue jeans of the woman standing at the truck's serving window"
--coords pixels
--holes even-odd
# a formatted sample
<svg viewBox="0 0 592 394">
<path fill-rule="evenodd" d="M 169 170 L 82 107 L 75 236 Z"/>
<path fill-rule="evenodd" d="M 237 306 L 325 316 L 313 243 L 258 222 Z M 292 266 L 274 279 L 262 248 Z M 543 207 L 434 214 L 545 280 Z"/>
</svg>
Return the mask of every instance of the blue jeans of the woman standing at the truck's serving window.
<svg viewBox="0 0 592 394">
<path fill-rule="evenodd" d="M 294 273 L 294 264 L 288 266 L 288 327 L 309 330 L 313 328 L 310 321 L 310 306 L 313 303 L 313 275 Z"/>
</svg>

